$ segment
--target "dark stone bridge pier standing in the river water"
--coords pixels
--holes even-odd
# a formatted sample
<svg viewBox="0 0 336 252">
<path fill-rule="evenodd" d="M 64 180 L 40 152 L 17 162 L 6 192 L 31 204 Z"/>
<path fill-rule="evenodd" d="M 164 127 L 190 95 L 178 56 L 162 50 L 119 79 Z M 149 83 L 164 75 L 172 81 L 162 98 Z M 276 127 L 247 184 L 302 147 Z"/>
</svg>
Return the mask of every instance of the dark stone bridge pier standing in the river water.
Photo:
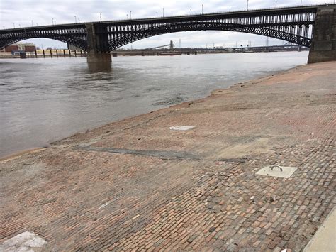
<svg viewBox="0 0 336 252">
<path fill-rule="evenodd" d="M 111 67 L 111 53 L 108 50 L 108 33 L 106 26 L 89 23 L 87 31 L 87 57 L 89 67 Z"/>
</svg>

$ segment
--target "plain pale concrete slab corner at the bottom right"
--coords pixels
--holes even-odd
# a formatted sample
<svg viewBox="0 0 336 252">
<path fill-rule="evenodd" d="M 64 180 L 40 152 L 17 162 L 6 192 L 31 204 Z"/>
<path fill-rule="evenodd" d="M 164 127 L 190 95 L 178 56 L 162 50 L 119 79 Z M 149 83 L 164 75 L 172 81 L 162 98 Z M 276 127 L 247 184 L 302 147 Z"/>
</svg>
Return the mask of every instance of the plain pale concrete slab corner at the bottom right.
<svg viewBox="0 0 336 252">
<path fill-rule="evenodd" d="M 336 251 L 336 210 L 335 207 L 320 229 L 307 244 L 303 252 L 333 252 Z"/>
</svg>

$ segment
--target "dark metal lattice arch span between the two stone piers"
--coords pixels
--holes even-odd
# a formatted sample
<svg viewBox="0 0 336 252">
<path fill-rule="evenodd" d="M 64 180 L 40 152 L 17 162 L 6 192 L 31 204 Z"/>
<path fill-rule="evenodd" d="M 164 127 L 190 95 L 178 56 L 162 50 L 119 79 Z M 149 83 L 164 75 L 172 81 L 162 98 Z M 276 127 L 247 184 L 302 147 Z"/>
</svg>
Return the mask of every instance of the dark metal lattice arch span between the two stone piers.
<svg viewBox="0 0 336 252">
<path fill-rule="evenodd" d="M 316 9 L 295 11 L 257 11 L 215 16 L 198 15 L 166 18 L 161 22 L 119 22 L 108 27 L 109 50 L 115 50 L 136 40 L 179 31 L 237 31 L 267 35 L 310 47 Z M 227 13 L 228 14 L 228 13 Z M 193 18 L 194 17 L 194 18 Z M 165 21 L 165 22 L 164 22 Z M 309 32 L 310 31 L 310 32 Z"/>
</svg>

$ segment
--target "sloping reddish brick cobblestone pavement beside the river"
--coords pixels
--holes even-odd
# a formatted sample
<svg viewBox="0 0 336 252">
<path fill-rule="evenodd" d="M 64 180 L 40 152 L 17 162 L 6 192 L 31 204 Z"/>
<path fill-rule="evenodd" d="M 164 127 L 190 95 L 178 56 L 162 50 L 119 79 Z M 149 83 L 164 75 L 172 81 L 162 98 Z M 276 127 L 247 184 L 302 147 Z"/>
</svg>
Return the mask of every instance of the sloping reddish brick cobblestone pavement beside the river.
<svg viewBox="0 0 336 252">
<path fill-rule="evenodd" d="M 0 243 L 30 231 L 55 251 L 301 250 L 336 203 L 335 69 L 297 67 L 2 160 Z M 255 174 L 273 164 L 298 169 Z"/>
</svg>

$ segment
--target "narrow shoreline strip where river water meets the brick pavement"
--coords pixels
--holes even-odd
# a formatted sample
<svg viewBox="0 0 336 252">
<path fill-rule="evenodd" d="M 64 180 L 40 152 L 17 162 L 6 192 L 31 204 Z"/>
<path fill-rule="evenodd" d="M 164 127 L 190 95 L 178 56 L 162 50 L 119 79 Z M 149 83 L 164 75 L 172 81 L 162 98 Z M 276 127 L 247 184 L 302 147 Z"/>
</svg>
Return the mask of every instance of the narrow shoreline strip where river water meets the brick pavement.
<svg viewBox="0 0 336 252">
<path fill-rule="evenodd" d="M 190 100 L 190 101 L 186 101 L 186 102 L 181 102 L 179 104 L 173 104 L 173 105 L 167 106 L 167 107 L 162 108 L 162 109 L 169 109 L 169 108 L 174 107 L 174 106 L 179 106 L 179 105 L 182 105 L 182 104 L 189 104 L 190 102 L 194 103 L 194 102 L 201 101 L 203 99 L 206 99 L 206 98 L 211 97 L 212 95 L 216 95 L 216 94 L 224 94 L 224 93 L 230 92 L 230 89 L 232 89 L 233 87 L 236 87 L 238 85 L 257 84 L 257 83 L 262 82 L 264 80 L 268 80 L 269 78 L 285 74 L 286 72 L 289 72 L 291 70 L 295 70 L 295 69 L 297 69 L 299 67 L 303 67 L 303 66 L 306 66 L 306 65 L 298 65 L 296 67 L 291 67 L 291 68 L 289 68 L 287 70 L 282 70 L 282 71 L 280 70 L 280 71 L 275 72 L 273 75 L 265 75 L 265 76 L 262 76 L 262 77 L 257 77 L 257 78 L 251 79 L 251 80 L 247 80 L 245 82 L 237 82 L 235 84 L 230 85 L 229 87 L 227 87 L 225 89 L 213 89 L 210 92 L 210 94 L 208 94 L 208 96 L 206 96 L 206 97 L 202 97 L 202 98 L 199 98 L 199 99 L 194 99 L 194 100 Z M 150 113 L 152 113 L 154 111 L 160 111 L 162 109 L 157 109 L 157 110 L 149 111 L 149 112 L 147 112 L 145 114 L 150 114 Z M 59 143 L 61 141 L 66 140 L 67 138 L 71 138 L 72 136 L 75 136 L 77 134 L 82 134 L 82 133 L 86 133 L 88 131 L 93 131 L 95 129 L 106 127 L 106 126 L 108 126 L 110 124 L 113 124 L 113 123 L 116 123 L 118 121 L 123 121 L 125 119 L 132 119 L 133 117 L 138 117 L 138 116 L 142 116 L 142 115 L 143 114 L 138 114 L 138 115 L 135 115 L 135 116 L 128 116 L 128 117 L 125 117 L 125 118 L 117 120 L 117 121 L 111 121 L 111 122 L 109 122 L 107 124 L 103 124 L 103 125 L 98 126 L 98 127 L 89 128 L 89 129 L 87 129 L 85 131 L 78 131 L 77 133 L 71 134 L 70 136 L 67 136 L 65 138 L 60 138 L 59 140 L 52 141 L 51 143 L 47 143 L 47 146 L 27 148 L 27 149 L 24 149 L 24 150 L 18 150 L 16 152 L 13 152 L 13 153 L 8 154 L 8 155 L 4 155 L 2 157 L 0 156 L 0 164 L 6 162 L 7 160 L 11 160 L 12 158 L 19 158 L 21 155 L 26 155 L 26 154 L 29 154 L 29 153 L 34 153 L 35 151 L 42 151 L 44 149 L 50 148 L 50 146 L 52 146 L 54 143 Z"/>
</svg>

